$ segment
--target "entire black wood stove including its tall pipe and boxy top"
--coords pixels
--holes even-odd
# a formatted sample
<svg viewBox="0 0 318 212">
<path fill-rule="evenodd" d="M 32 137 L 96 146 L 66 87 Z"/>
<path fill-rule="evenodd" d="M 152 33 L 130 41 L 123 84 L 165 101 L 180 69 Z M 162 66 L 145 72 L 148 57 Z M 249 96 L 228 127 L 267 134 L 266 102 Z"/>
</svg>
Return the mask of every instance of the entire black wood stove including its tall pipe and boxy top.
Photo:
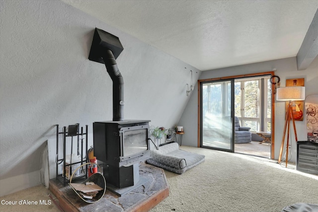
<svg viewBox="0 0 318 212">
<path fill-rule="evenodd" d="M 124 120 L 124 79 L 116 63 L 123 49 L 118 37 L 95 28 L 88 59 L 105 64 L 113 81 L 113 121 L 93 123 L 94 155 L 105 163 L 106 187 L 119 196 L 147 182 L 139 162 L 150 158 L 150 120 Z"/>
</svg>

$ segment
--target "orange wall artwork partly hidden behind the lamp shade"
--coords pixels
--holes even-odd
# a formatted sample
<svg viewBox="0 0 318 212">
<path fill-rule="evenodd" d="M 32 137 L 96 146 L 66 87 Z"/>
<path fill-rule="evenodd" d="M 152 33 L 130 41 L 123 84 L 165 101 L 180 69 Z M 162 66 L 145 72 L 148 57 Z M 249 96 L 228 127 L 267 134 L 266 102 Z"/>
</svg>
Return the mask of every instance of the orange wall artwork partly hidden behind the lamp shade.
<svg viewBox="0 0 318 212">
<path fill-rule="evenodd" d="M 289 86 L 305 86 L 305 78 L 286 79 L 286 87 Z M 287 111 L 288 102 L 286 102 L 285 111 Z M 304 101 L 293 101 L 293 116 L 295 121 L 304 120 Z"/>
</svg>

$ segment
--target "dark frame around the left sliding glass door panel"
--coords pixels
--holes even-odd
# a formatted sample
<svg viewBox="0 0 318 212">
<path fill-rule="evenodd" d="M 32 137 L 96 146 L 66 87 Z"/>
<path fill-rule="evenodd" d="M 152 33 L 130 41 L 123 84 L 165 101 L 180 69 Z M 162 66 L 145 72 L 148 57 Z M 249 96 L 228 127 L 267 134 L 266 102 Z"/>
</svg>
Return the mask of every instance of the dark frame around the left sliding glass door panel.
<svg viewBox="0 0 318 212">
<path fill-rule="evenodd" d="M 201 117 L 203 115 L 203 98 L 201 98 L 203 95 L 203 85 L 206 83 L 217 83 L 217 82 L 225 82 L 225 81 L 230 81 L 231 83 L 231 141 L 230 141 L 230 148 L 220 148 L 220 147 L 212 147 L 208 145 L 203 145 L 203 118 Z M 210 149 L 215 149 L 215 150 L 221 150 L 221 151 L 228 151 L 228 152 L 234 152 L 234 78 L 229 78 L 229 79 L 219 79 L 219 80 L 207 80 L 204 82 L 199 83 L 199 147 L 203 148 L 210 148 Z"/>
</svg>

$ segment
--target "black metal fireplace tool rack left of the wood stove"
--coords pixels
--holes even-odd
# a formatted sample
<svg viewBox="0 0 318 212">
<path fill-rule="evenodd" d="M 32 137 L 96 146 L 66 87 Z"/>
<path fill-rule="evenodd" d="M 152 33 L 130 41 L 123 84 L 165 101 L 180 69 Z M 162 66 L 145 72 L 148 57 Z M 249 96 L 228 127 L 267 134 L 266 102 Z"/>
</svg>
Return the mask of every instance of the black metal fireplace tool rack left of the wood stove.
<svg viewBox="0 0 318 212">
<path fill-rule="evenodd" d="M 88 132 L 88 125 L 85 126 L 85 132 L 83 132 L 83 127 L 80 128 L 80 133 L 79 133 L 79 124 L 76 125 L 69 125 L 68 126 L 68 131 L 66 126 L 63 127 L 63 131 L 59 132 L 59 125 L 56 125 L 56 158 L 55 158 L 55 163 L 56 163 L 56 179 L 59 180 L 61 183 L 63 183 L 64 186 L 66 186 L 67 182 L 70 182 L 72 176 L 72 166 L 82 166 L 83 164 L 86 163 L 87 159 L 87 146 L 88 146 L 88 139 L 87 139 L 87 132 Z M 63 158 L 59 158 L 59 135 L 63 134 Z M 67 144 L 67 138 L 71 137 L 71 154 L 70 154 L 70 163 L 66 163 L 66 144 Z M 73 137 L 77 137 L 77 155 L 80 155 L 80 161 L 77 162 L 72 162 L 72 154 L 73 154 Z M 79 140 L 81 148 L 79 150 Z M 85 143 L 83 143 L 83 140 L 85 140 Z M 83 151 L 85 150 L 85 151 Z M 85 156 L 83 157 L 83 152 L 85 152 Z M 63 174 L 58 173 L 59 169 L 59 164 L 63 162 Z M 69 169 L 69 178 L 67 179 L 66 176 L 66 170 L 67 167 Z M 82 169 L 84 174 L 80 174 L 77 177 L 73 177 L 73 180 L 78 179 L 78 178 L 83 178 L 85 179 L 88 178 L 88 173 L 87 173 L 87 164 L 85 169 Z"/>
</svg>

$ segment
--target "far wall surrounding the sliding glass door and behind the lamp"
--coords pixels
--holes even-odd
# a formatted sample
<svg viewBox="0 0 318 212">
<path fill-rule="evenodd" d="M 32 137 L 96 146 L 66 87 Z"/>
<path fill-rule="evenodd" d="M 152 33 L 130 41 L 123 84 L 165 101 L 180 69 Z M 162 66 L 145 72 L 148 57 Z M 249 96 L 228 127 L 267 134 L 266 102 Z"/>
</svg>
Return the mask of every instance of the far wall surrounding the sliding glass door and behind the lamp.
<svg viewBox="0 0 318 212">
<path fill-rule="evenodd" d="M 284 87 L 286 79 L 305 78 L 306 96 L 311 94 L 318 94 L 318 58 L 311 64 L 311 66 L 304 71 L 297 71 L 296 57 L 274 60 L 262 63 L 249 64 L 244 66 L 230 67 L 225 69 L 217 69 L 211 71 L 203 71 L 200 79 L 216 78 L 223 76 L 232 76 L 239 74 L 249 74 L 264 71 L 272 71 L 277 69 L 275 75 L 278 75 L 281 80 L 281 86 Z M 197 85 L 195 87 L 197 90 Z M 277 113 L 282 111 L 283 113 Z M 285 112 L 285 102 L 275 100 L 275 152 L 274 157 L 278 159 L 280 146 L 283 138 L 283 130 L 285 123 L 285 116 L 279 115 Z M 183 136 L 182 144 L 197 146 L 198 143 L 198 92 L 194 92 L 191 96 L 178 125 L 183 126 L 185 134 Z M 305 116 L 306 117 L 306 116 Z M 307 141 L 306 119 L 304 121 L 296 121 L 296 130 L 298 141 Z M 286 144 L 285 138 L 285 144 Z M 292 153 L 291 161 L 296 161 L 296 149 L 294 132 L 292 130 Z"/>
</svg>

